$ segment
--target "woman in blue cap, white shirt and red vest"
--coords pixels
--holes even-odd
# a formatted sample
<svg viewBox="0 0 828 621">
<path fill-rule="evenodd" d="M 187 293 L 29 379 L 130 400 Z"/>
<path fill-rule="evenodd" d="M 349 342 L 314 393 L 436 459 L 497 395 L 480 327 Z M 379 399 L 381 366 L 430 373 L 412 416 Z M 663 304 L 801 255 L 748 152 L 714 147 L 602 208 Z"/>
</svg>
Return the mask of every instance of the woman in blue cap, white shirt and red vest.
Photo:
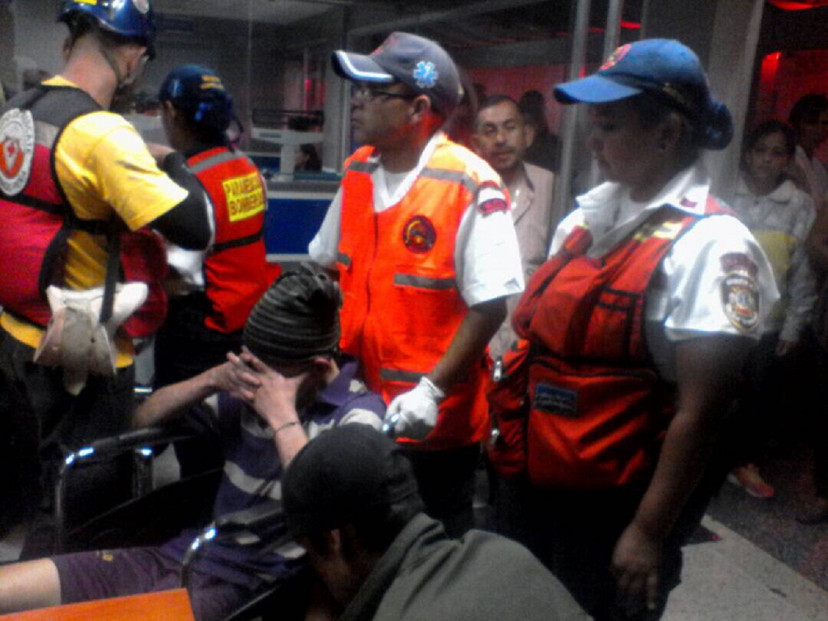
<svg viewBox="0 0 828 621">
<path fill-rule="evenodd" d="M 499 518 L 595 619 L 657 619 L 706 503 L 697 484 L 777 299 L 700 161 L 732 136 L 696 55 L 620 47 L 560 84 L 606 180 L 577 198 L 514 313 L 531 353 L 524 469 Z"/>
</svg>

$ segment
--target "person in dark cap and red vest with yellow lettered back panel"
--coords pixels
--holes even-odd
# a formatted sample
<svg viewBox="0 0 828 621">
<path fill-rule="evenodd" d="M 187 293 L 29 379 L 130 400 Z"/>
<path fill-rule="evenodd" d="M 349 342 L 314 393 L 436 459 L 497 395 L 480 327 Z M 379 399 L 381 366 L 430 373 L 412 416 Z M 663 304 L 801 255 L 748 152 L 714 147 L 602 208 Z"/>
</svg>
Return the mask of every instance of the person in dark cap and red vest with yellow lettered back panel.
<svg viewBox="0 0 828 621">
<path fill-rule="evenodd" d="M 233 99 L 209 67 L 181 65 L 161 84 L 161 121 L 209 199 L 214 235 L 204 251 L 167 244 L 170 308 L 155 339 L 155 388 L 195 377 L 238 352 L 253 305 L 271 281 L 264 246 L 267 188 L 256 165 L 228 143 Z M 158 156 L 171 150 L 151 145 Z M 176 444 L 183 476 L 221 465 L 218 440 Z"/>
</svg>

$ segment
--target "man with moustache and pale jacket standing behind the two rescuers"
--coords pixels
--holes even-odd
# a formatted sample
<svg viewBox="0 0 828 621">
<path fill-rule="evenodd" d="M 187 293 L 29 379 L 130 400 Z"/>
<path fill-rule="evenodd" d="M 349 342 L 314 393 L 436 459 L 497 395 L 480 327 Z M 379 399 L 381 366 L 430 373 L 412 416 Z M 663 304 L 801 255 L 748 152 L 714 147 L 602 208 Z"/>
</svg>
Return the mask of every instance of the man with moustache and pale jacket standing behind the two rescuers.
<svg viewBox="0 0 828 621">
<path fill-rule="evenodd" d="M 480 104 L 474 123 L 474 150 L 497 171 L 509 190 L 512 219 L 520 248 L 523 278 L 529 277 L 549 256 L 552 233 L 563 214 L 554 210 L 555 175 L 525 160 L 532 141 L 517 103 L 508 95 L 492 95 Z M 516 338 L 512 310 L 517 296 L 507 302 L 508 315 L 490 344 L 492 358 L 503 355 Z"/>
</svg>

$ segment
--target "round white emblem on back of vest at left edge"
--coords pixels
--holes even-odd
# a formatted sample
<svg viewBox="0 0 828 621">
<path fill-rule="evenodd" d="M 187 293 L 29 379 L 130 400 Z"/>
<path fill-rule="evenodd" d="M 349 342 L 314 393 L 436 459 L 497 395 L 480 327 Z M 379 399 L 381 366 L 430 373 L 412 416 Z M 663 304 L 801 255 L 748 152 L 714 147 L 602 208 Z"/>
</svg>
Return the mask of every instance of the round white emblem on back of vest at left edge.
<svg viewBox="0 0 828 621">
<path fill-rule="evenodd" d="M 35 121 L 28 110 L 9 110 L 0 117 L 0 190 L 19 194 L 31 173 L 35 153 Z"/>
</svg>

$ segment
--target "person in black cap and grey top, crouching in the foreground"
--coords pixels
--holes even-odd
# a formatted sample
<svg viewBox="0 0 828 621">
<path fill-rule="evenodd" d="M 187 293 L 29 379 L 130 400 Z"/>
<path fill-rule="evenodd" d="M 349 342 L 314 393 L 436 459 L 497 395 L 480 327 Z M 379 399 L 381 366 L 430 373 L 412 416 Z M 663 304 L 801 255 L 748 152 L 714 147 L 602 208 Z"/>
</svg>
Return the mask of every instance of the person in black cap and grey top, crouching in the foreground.
<svg viewBox="0 0 828 621">
<path fill-rule="evenodd" d="M 475 530 L 450 539 L 421 513 L 401 448 L 368 426 L 311 440 L 285 471 L 282 501 L 340 621 L 586 619 L 526 548 Z"/>
</svg>

